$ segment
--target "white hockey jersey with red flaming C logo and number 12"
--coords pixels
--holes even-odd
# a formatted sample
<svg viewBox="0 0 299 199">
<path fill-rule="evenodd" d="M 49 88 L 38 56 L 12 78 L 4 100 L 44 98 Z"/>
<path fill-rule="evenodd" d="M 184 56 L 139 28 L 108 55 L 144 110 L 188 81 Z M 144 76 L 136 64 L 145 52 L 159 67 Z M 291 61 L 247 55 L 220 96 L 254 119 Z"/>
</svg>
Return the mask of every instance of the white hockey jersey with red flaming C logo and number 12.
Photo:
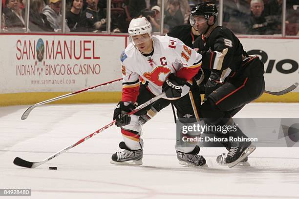
<svg viewBox="0 0 299 199">
<path fill-rule="evenodd" d="M 152 36 L 152 39 L 154 41 L 152 56 L 144 56 L 132 43 L 121 55 L 123 101 L 137 98 L 137 96 L 131 96 L 131 99 L 129 96 L 124 97 L 124 89 L 139 86 L 140 80 L 148 81 L 149 90 L 154 95 L 159 95 L 162 93 L 164 81 L 171 73 L 176 73 L 179 78 L 190 80 L 201 66 L 202 56 L 181 40 L 168 36 Z M 184 85 L 182 96 L 188 92 L 189 87 Z"/>
</svg>

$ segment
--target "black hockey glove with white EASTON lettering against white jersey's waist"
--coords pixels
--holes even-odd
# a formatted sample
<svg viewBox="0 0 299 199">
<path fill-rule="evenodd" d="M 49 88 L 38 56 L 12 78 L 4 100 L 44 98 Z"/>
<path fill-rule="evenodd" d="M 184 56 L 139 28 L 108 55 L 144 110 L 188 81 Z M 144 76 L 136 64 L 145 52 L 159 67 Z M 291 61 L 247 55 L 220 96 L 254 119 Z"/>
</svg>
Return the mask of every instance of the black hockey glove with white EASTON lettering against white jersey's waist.
<svg viewBox="0 0 299 199">
<path fill-rule="evenodd" d="M 163 83 L 162 92 L 165 92 L 167 98 L 180 98 L 185 83 L 185 79 L 178 78 L 171 73 L 168 79 Z"/>
</svg>

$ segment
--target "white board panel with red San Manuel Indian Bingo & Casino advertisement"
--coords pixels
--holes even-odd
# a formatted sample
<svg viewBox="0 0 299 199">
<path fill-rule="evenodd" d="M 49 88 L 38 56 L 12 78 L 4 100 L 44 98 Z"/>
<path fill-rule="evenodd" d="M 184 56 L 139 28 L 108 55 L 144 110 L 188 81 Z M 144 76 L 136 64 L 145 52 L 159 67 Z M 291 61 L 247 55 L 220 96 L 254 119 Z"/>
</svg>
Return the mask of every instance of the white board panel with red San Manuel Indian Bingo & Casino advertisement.
<svg viewBox="0 0 299 199">
<path fill-rule="evenodd" d="M 124 36 L 0 35 L 0 43 L 2 94 L 76 91 L 122 76 Z"/>
</svg>

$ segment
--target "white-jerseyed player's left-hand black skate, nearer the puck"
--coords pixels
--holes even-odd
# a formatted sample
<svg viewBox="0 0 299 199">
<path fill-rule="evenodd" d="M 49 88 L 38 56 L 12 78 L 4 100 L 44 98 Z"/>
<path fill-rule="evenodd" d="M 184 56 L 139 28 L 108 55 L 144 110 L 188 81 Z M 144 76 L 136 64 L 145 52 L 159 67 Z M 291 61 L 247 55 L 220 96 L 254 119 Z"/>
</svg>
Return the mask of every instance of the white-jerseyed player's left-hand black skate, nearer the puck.
<svg viewBox="0 0 299 199">
<path fill-rule="evenodd" d="M 142 149 L 130 150 L 125 142 L 120 142 L 119 147 L 125 149 L 124 151 L 118 151 L 111 157 L 111 164 L 122 165 L 141 165 L 142 164 Z"/>
</svg>

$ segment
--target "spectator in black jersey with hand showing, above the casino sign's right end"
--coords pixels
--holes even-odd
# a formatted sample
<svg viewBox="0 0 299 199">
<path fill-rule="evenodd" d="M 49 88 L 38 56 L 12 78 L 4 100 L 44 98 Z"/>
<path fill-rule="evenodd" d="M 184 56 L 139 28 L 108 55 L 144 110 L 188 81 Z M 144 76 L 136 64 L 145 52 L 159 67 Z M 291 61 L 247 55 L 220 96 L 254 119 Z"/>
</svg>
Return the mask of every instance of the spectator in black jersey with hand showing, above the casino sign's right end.
<svg viewBox="0 0 299 199">
<path fill-rule="evenodd" d="M 80 29 L 85 32 L 106 31 L 106 13 L 98 8 L 99 0 L 86 0 L 87 8 L 82 12 Z"/>
</svg>

